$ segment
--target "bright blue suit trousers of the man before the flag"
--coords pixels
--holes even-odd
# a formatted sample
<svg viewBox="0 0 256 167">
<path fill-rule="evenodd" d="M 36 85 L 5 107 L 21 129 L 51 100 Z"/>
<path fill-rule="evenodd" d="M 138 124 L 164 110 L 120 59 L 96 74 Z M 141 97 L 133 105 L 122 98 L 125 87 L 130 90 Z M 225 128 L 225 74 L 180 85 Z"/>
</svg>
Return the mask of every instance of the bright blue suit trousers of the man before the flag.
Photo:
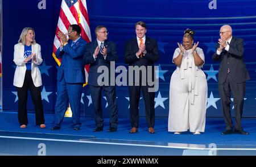
<svg viewBox="0 0 256 167">
<path fill-rule="evenodd" d="M 55 122 L 54 126 L 60 127 L 64 119 L 65 112 L 70 103 L 72 110 L 73 127 L 81 127 L 80 108 L 82 96 L 82 83 L 68 83 L 63 77 L 57 82 L 57 100 L 55 104 Z"/>
</svg>

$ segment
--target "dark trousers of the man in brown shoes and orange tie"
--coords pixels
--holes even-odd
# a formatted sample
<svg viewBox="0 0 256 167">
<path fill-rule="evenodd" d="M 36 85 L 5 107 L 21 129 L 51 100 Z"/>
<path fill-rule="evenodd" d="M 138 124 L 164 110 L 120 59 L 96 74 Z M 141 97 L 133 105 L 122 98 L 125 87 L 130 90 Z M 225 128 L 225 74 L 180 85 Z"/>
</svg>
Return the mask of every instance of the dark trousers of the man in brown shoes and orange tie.
<svg viewBox="0 0 256 167">
<path fill-rule="evenodd" d="M 155 126 L 155 92 L 148 92 L 148 86 L 129 86 L 130 94 L 130 121 L 131 127 L 139 127 L 139 100 L 141 98 L 141 89 L 145 103 L 145 114 L 147 127 Z"/>
</svg>

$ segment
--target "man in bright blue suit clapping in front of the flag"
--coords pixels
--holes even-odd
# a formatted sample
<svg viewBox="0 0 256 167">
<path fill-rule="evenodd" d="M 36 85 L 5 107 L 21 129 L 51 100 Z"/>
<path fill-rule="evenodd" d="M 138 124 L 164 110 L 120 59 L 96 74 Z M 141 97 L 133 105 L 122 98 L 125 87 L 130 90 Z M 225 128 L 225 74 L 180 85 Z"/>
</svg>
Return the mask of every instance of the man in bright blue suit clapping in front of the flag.
<svg viewBox="0 0 256 167">
<path fill-rule="evenodd" d="M 80 36 L 81 28 L 72 24 L 68 28 L 68 37 L 58 32 L 61 41 L 56 51 L 56 57 L 61 58 L 57 72 L 57 100 L 55 104 L 55 121 L 51 130 L 59 130 L 65 116 L 68 103 L 72 110 L 73 129 L 80 130 L 80 101 L 82 84 L 85 82 L 84 64 L 82 57 L 86 41 Z"/>
</svg>

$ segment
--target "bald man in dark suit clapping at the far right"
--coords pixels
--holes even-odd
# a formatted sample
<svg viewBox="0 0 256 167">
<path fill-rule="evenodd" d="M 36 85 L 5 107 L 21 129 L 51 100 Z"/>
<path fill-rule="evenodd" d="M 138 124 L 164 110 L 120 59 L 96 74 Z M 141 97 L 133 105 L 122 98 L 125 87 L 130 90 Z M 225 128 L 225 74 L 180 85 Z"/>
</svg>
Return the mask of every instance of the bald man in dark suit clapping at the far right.
<svg viewBox="0 0 256 167">
<path fill-rule="evenodd" d="M 243 39 L 232 36 L 232 27 L 224 25 L 220 28 L 220 39 L 216 45 L 213 60 L 220 61 L 218 70 L 218 90 L 220 92 L 222 111 L 226 130 L 222 135 L 239 133 L 248 135 L 243 131 L 241 117 L 243 112 L 243 98 L 245 97 L 245 82 L 250 80 L 249 73 L 243 61 Z M 234 98 L 236 126 L 233 131 L 233 122 L 230 113 L 230 92 Z"/>
</svg>

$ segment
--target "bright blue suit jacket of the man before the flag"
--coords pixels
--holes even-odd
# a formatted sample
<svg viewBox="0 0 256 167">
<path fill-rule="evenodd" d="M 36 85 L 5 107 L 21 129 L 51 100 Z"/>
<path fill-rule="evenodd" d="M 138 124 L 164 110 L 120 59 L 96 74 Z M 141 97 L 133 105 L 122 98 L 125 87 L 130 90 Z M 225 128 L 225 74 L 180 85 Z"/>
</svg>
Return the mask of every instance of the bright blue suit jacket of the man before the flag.
<svg viewBox="0 0 256 167">
<path fill-rule="evenodd" d="M 86 41 L 80 37 L 72 47 L 71 44 L 72 40 L 68 40 L 68 44 L 63 47 L 62 51 L 60 48 L 56 51 L 56 57 L 61 58 L 57 80 L 61 81 L 61 78 L 64 77 L 68 83 L 84 83 L 85 72 L 82 57 L 85 52 Z"/>
</svg>

